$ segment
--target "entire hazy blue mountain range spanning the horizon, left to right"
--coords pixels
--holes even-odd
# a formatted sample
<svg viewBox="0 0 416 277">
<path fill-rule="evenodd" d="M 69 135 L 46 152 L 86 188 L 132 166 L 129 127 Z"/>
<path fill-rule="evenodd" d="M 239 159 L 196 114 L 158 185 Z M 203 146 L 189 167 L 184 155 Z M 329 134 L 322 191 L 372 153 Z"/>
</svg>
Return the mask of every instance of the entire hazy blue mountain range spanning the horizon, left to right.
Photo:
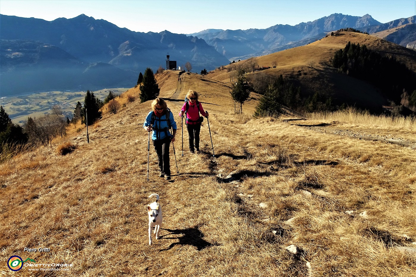
<svg viewBox="0 0 416 277">
<path fill-rule="evenodd" d="M 192 71 L 212 70 L 245 59 L 314 42 L 341 28 L 380 32 L 401 25 L 394 39 L 409 45 L 416 41 L 414 17 L 386 24 L 363 17 L 333 14 L 295 26 L 267 29 L 207 29 L 195 34 L 133 32 L 87 15 L 46 21 L 0 15 L 0 92 L 19 93 L 132 87 L 139 72 L 165 67 L 166 55 L 177 65 L 189 61 Z M 405 37 L 403 39 L 403 37 Z"/>
</svg>

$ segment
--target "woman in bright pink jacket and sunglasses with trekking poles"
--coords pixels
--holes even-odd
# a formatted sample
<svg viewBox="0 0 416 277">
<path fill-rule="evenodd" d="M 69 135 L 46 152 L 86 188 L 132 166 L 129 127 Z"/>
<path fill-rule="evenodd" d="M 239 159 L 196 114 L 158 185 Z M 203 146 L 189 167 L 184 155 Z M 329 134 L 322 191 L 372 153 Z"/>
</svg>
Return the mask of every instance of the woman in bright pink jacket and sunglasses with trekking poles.
<svg viewBox="0 0 416 277">
<path fill-rule="evenodd" d="M 199 132 L 201 131 L 201 123 L 203 117 L 208 118 L 208 112 L 205 112 L 202 108 L 201 102 L 198 101 L 198 93 L 193 90 L 189 90 L 186 94 L 188 101 L 183 104 L 182 110 L 179 112 L 179 116 L 183 116 L 186 113 L 186 129 L 188 129 L 189 135 L 189 152 L 192 154 L 199 151 Z M 194 144 L 195 140 L 195 144 Z"/>
</svg>

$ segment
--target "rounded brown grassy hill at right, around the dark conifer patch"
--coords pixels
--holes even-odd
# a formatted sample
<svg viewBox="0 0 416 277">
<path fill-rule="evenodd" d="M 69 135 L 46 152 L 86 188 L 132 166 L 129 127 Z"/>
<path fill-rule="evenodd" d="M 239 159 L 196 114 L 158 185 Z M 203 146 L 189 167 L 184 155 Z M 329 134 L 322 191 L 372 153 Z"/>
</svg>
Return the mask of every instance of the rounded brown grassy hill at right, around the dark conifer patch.
<svg viewBox="0 0 416 277">
<path fill-rule="evenodd" d="M 379 53 L 393 55 L 407 66 L 416 71 L 416 55 L 414 51 L 401 47 L 400 45 L 384 41 L 367 34 L 356 32 L 341 32 L 339 36 L 328 36 L 311 44 L 287 49 L 266 56 L 259 56 L 259 66 L 272 66 L 277 63 L 276 68 L 263 71 L 256 71 L 251 74 L 267 74 L 292 79 L 302 88 L 304 95 L 312 95 L 315 92 L 332 96 L 337 104 L 348 103 L 357 107 L 378 110 L 381 105 L 388 104 L 386 99 L 381 97 L 378 91 L 368 83 L 337 74 L 331 66 L 331 59 L 334 53 L 343 49 L 348 42 L 363 45 L 369 49 L 382 50 Z M 411 56 L 413 55 L 413 56 Z M 240 61 L 225 66 L 225 69 L 211 71 L 208 77 L 230 82 L 235 66 L 244 64 Z"/>
</svg>

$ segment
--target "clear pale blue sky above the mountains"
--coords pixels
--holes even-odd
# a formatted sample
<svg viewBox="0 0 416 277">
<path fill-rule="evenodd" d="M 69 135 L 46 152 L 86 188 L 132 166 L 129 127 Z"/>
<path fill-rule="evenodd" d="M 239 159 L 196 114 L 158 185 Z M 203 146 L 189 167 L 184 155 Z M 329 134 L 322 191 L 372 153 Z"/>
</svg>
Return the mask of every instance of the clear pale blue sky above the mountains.
<svg viewBox="0 0 416 277">
<path fill-rule="evenodd" d="M 191 34 L 294 26 L 333 13 L 386 23 L 416 15 L 416 0 L 0 0 L 0 13 L 48 21 L 85 14 L 136 32 Z"/>
</svg>

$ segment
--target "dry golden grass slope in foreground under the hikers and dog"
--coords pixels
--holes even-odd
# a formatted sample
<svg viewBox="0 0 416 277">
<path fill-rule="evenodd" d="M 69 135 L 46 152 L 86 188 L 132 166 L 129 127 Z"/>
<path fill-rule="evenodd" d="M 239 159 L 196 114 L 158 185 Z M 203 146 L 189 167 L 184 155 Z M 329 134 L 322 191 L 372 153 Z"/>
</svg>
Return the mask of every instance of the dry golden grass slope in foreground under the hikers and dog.
<svg viewBox="0 0 416 277">
<path fill-rule="evenodd" d="M 416 258 L 416 127 L 355 113 L 253 119 L 258 96 L 234 114 L 229 84 L 178 71 L 157 74 L 178 124 L 173 181 L 157 176 L 139 88 L 86 130 L 0 164 L 5 276 L 411 276 Z M 210 112 L 202 154 L 181 147 L 177 116 L 188 89 Z M 128 102 L 128 96 L 136 98 Z M 131 98 L 131 97 L 130 97 Z M 72 153 L 58 152 L 64 143 Z M 387 143 L 389 142 L 389 143 Z M 161 196 L 160 240 L 149 247 L 147 197 Z M 298 247 L 293 255 L 285 248 Z M 50 248 L 50 252 L 23 252 Z M 12 255 L 69 271 L 17 273 Z M 413 272 L 413 273 L 412 273 Z"/>
</svg>

